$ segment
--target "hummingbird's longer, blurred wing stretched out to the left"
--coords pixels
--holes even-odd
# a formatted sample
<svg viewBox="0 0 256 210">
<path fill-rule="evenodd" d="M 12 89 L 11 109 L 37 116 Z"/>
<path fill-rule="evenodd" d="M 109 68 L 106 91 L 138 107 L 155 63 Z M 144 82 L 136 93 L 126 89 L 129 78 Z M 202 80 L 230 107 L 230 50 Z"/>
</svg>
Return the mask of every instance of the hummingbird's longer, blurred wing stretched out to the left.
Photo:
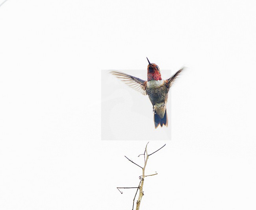
<svg viewBox="0 0 256 210">
<path fill-rule="evenodd" d="M 143 95 L 147 95 L 147 92 L 146 92 L 147 81 L 131 76 L 129 74 L 125 74 L 123 72 L 111 71 L 110 73 L 115 75 L 117 78 L 121 79 L 124 83 L 126 83 L 130 87 L 141 92 Z"/>
</svg>

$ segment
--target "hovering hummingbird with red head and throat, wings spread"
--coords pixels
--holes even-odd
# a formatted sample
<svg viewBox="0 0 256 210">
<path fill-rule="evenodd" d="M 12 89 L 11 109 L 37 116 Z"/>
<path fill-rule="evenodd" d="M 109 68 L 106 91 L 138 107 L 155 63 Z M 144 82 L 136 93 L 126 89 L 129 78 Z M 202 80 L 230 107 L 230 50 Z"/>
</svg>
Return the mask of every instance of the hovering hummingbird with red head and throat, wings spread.
<svg viewBox="0 0 256 210">
<path fill-rule="evenodd" d="M 155 63 L 150 63 L 148 60 L 148 81 L 119 71 L 111 71 L 110 73 L 120 78 L 124 83 L 138 90 L 143 95 L 148 95 L 153 105 L 154 123 L 155 128 L 157 128 L 159 125 L 161 125 L 161 127 L 163 127 L 163 125 L 168 126 L 168 116 L 166 112 L 168 92 L 174 80 L 183 69 L 184 68 L 178 70 L 178 72 L 169 79 L 162 80 L 159 66 Z"/>
</svg>

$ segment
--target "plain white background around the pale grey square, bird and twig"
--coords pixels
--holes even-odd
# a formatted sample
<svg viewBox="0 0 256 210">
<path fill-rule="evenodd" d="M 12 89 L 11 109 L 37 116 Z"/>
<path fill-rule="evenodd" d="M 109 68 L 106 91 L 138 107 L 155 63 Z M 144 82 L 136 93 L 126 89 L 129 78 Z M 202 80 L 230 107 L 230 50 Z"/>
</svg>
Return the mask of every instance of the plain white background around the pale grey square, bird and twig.
<svg viewBox="0 0 256 210">
<path fill-rule="evenodd" d="M 188 69 L 172 89 L 172 140 L 148 145 L 167 144 L 148 161 L 146 173 L 158 175 L 145 180 L 141 210 L 254 210 L 255 9 L 255 1 L 6 1 L 0 209 L 131 210 L 134 191 L 116 187 L 137 186 L 140 168 L 124 155 L 141 164 L 147 141 L 101 140 L 100 78 L 102 69 L 143 70 L 147 56 L 161 69 Z"/>
</svg>

